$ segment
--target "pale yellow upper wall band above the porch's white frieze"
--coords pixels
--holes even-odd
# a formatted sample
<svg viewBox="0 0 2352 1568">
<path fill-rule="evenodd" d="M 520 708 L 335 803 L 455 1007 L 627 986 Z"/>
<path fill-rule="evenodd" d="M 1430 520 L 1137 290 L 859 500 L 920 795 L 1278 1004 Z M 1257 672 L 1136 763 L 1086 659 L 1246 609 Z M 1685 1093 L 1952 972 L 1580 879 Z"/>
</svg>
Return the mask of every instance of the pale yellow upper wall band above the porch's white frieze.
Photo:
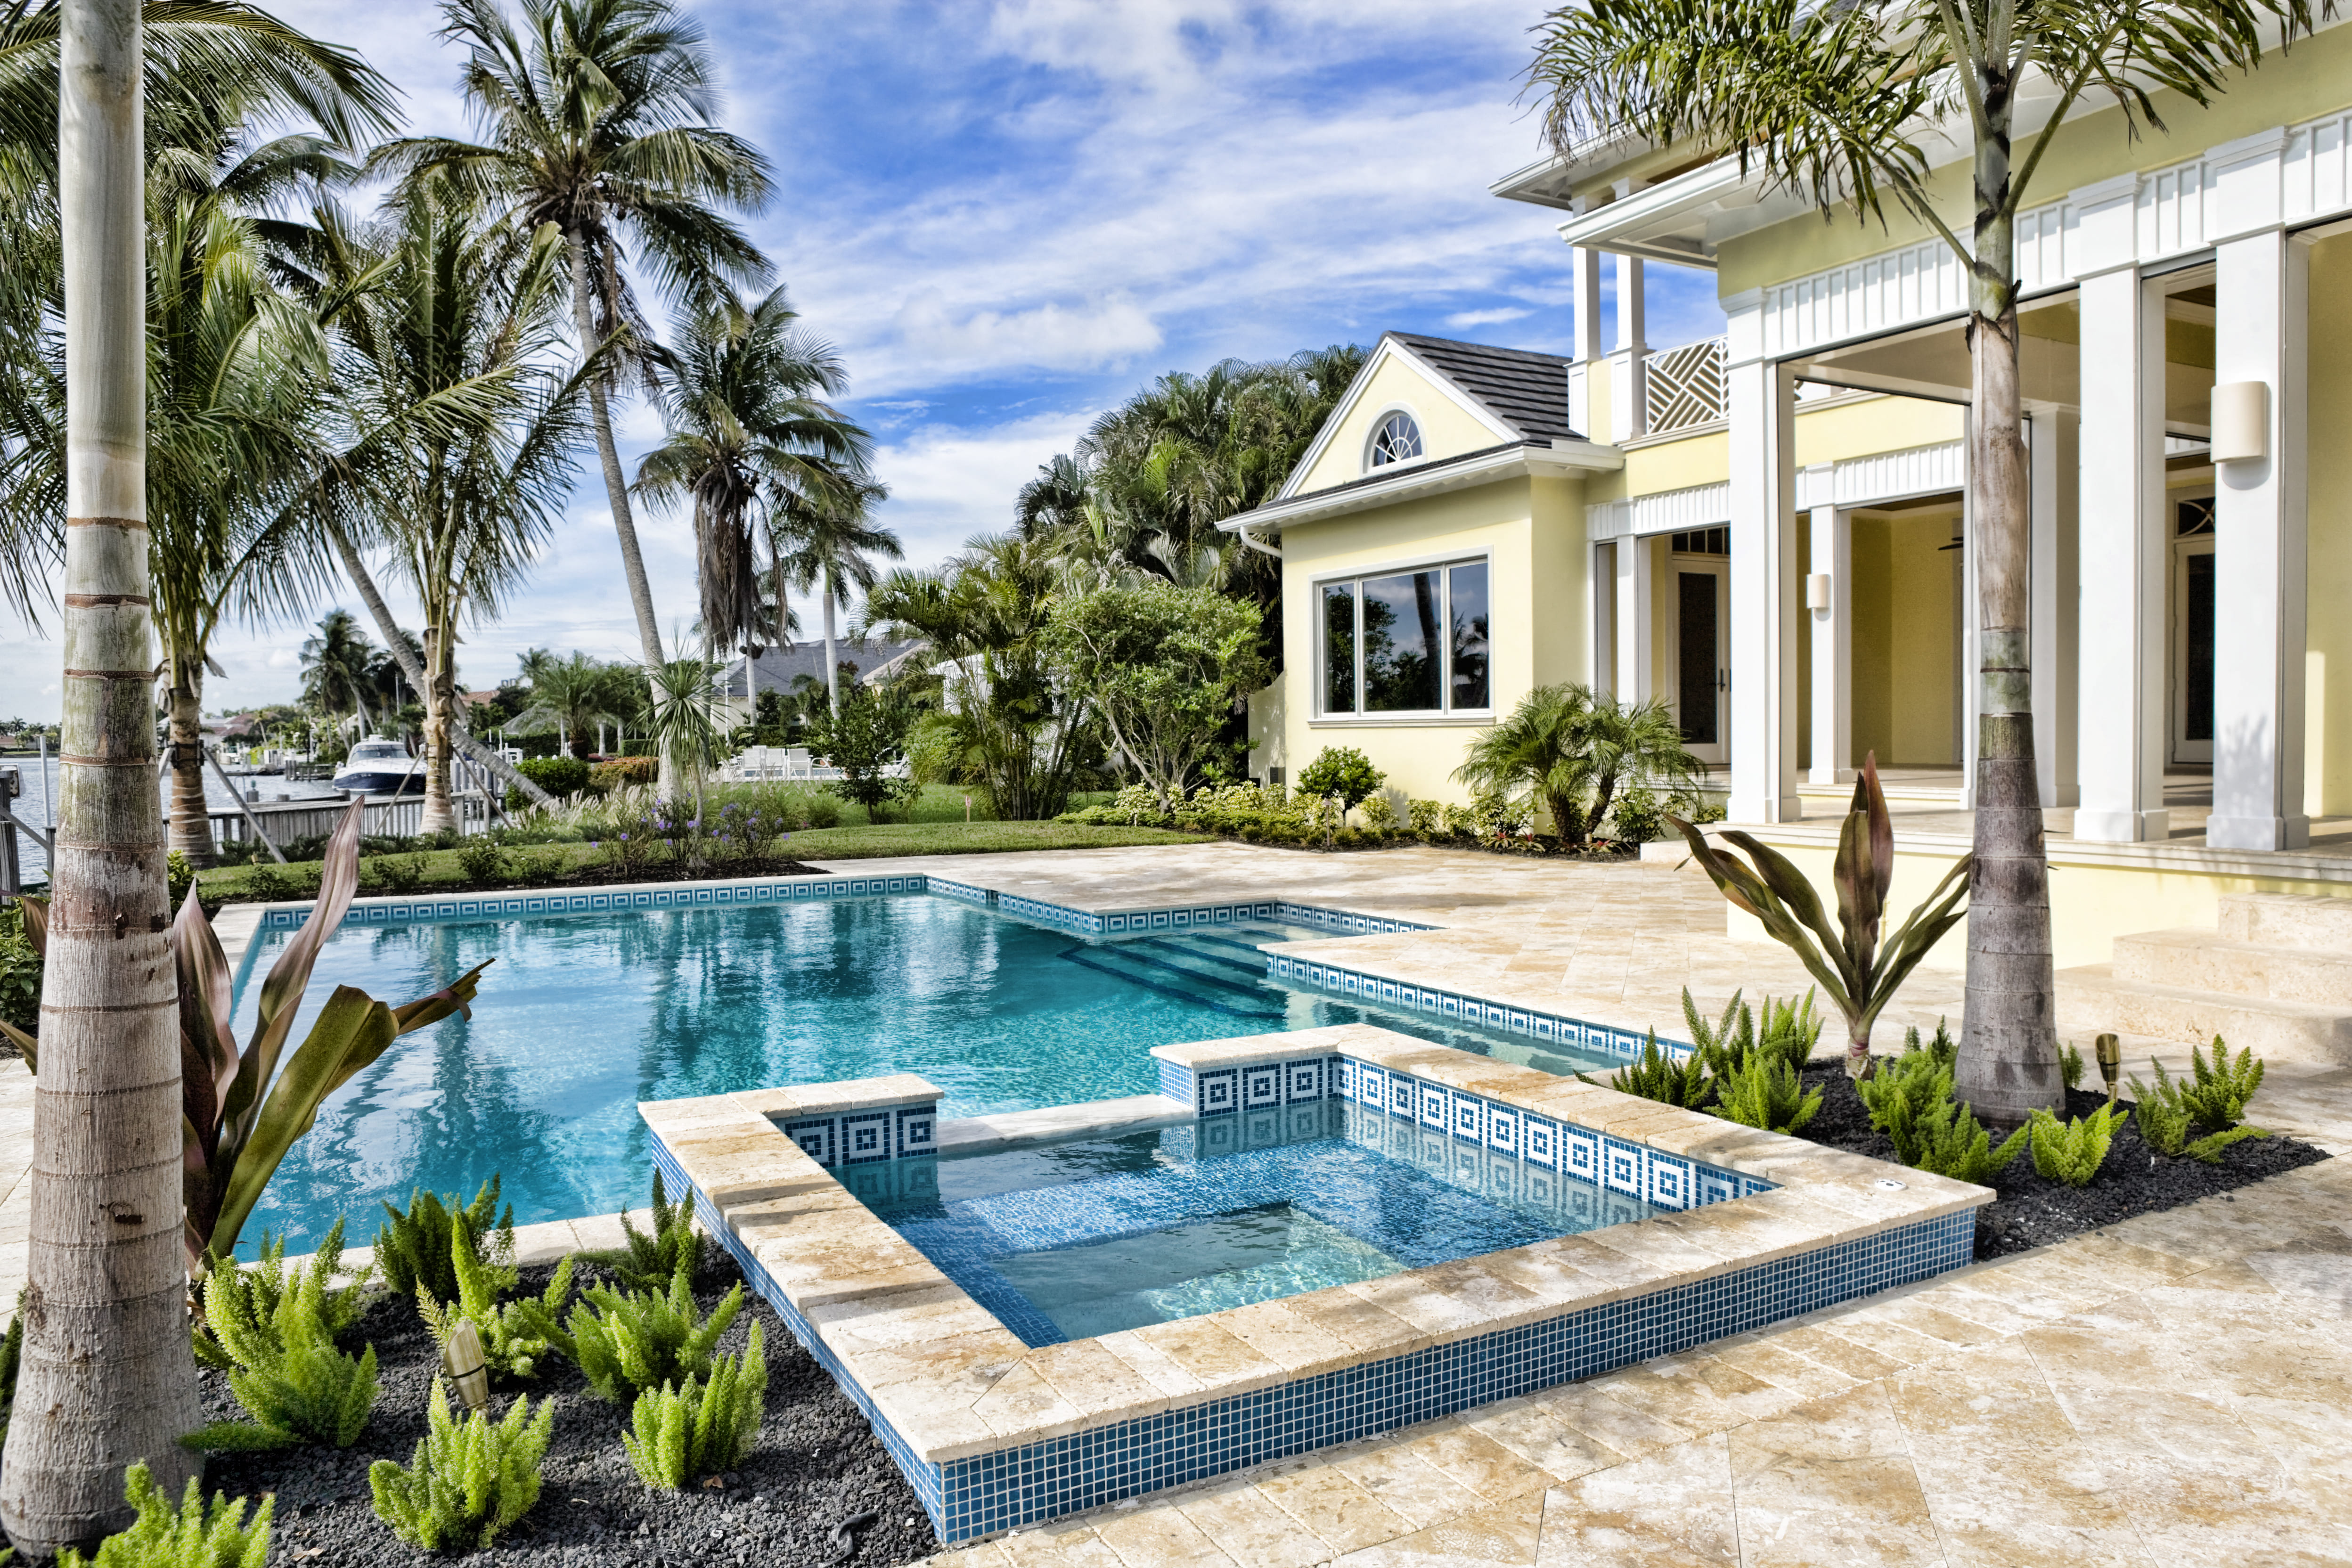
<svg viewBox="0 0 2352 1568">
<path fill-rule="evenodd" d="M 2027 207 L 2056 202 L 2067 190 L 2114 174 L 2185 162 L 2223 141 L 2312 120 L 2352 103 L 2352 26 L 2307 38 L 2291 54 L 2270 54 L 2256 75 L 2227 80 L 2211 108 L 2197 108 L 2176 92 L 2157 92 L 2154 103 L 2171 127 L 2169 132 L 2143 127 L 2140 136 L 2133 139 L 2119 108 L 2065 125 L 2051 141 L 2042 167 L 2034 169 L 2034 183 L 2025 195 Z M 2025 141 L 2018 143 L 2020 158 L 2025 146 Z M 1592 183 L 1602 186 L 1611 179 L 1616 179 L 1613 169 L 1597 169 Z M 1959 233 L 1969 233 L 1971 226 L 1969 181 L 1966 160 L 1947 162 L 1929 179 L 1938 216 L 1955 223 Z M 1731 296 L 1844 261 L 1877 256 L 1931 235 L 1931 228 L 1893 202 L 1886 205 L 1884 226 L 1879 219 L 1865 221 L 1851 212 L 1837 212 L 1828 221 L 1809 212 L 1752 235 L 1724 240 L 1717 249 L 1717 287 Z"/>
</svg>

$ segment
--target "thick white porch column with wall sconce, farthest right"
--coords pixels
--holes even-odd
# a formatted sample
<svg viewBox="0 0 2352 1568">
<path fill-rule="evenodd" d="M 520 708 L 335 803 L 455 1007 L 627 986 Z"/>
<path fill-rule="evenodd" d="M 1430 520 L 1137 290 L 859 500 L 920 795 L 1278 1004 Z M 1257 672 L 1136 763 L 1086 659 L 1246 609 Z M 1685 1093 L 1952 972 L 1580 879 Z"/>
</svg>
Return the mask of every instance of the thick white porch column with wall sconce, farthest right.
<svg viewBox="0 0 2352 1568">
<path fill-rule="evenodd" d="M 2227 172 L 2225 172 L 2227 179 Z M 2213 849 L 2303 849 L 2310 249 L 2281 228 L 2213 249 L 2213 383 L 2260 383 L 2263 456 L 2213 482 Z M 2216 458 L 2225 458 L 2216 451 Z"/>
</svg>

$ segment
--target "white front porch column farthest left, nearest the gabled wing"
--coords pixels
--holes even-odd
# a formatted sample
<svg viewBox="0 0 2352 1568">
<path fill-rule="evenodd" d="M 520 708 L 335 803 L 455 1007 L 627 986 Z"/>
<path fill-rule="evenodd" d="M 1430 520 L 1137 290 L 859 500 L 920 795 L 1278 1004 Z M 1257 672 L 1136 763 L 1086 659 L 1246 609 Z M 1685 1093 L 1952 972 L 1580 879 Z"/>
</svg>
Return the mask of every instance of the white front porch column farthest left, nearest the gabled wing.
<svg viewBox="0 0 2352 1568">
<path fill-rule="evenodd" d="M 1797 804 L 1797 378 L 1764 357 L 1755 294 L 1729 313 L 1731 820 L 1792 823 Z"/>
</svg>

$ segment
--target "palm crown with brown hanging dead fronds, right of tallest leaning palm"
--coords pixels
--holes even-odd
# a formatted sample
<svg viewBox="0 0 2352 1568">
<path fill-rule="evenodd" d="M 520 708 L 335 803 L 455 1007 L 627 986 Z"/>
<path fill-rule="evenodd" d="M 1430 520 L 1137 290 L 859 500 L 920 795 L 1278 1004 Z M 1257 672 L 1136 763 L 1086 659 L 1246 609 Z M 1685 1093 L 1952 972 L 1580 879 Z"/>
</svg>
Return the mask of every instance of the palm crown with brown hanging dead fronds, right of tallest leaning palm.
<svg viewBox="0 0 2352 1568">
<path fill-rule="evenodd" d="M 781 642 L 769 602 L 790 618 L 786 574 L 762 576 L 760 543 L 774 557 L 776 529 L 861 484 L 870 456 L 866 430 L 826 402 L 844 386 L 840 357 L 797 322 L 781 287 L 748 308 L 722 292 L 691 310 L 659 369 L 668 440 L 637 465 L 642 496 L 694 503 L 696 630 L 750 658 Z"/>
</svg>

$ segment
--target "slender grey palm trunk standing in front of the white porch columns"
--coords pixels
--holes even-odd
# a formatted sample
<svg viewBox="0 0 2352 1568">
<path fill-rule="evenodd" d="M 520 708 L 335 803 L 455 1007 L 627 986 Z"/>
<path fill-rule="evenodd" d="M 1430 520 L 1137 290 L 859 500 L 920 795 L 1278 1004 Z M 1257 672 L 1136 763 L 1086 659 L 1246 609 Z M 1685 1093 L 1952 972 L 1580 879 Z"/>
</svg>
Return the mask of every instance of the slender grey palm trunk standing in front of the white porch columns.
<svg viewBox="0 0 2352 1568">
<path fill-rule="evenodd" d="M 1969 980 L 1955 1095 L 1994 1126 L 2060 1110 L 2056 971 L 2042 788 L 2034 780 L 2032 555 L 2018 388 L 2016 242 L 2009 216 L 2006 87 L 1992 82 L 1997 134 L 1976 155 L 1976 268 L 1969 280 L 1973 411 L 1969 548 L 1983 637 L 1976 724 L 1976 870 L 1969 877 Z"/>
</svg>

